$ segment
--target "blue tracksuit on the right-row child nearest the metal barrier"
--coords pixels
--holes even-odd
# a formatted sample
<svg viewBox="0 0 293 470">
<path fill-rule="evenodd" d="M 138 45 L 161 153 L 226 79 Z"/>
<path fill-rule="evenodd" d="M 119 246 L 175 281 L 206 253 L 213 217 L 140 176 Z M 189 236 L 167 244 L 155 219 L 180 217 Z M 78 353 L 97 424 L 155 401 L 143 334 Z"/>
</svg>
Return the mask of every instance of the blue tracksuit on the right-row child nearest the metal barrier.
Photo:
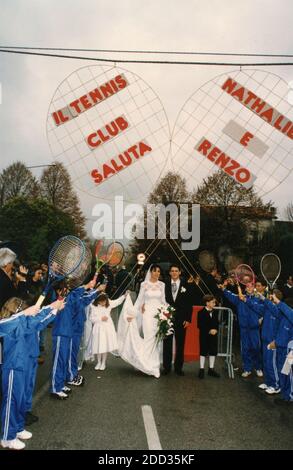
<svg viewBox="0 0 293 470">
<path fill-rule="evenodd" d="M 228 290 L 224 290 L 223 293 L 237 309 L 243 369 L 246 372 L 251 372 L 253 368 L 260 370 L 262 369 L 262 361 L 259 315 L 249 306 L 249 302 L 243 302 L 239 299 L 238 295 Z M 250 298 L 251 296 L 247 296 L 247 300 Z M 253 301 L 254 298 L 252 297 Z"/>
</svg>

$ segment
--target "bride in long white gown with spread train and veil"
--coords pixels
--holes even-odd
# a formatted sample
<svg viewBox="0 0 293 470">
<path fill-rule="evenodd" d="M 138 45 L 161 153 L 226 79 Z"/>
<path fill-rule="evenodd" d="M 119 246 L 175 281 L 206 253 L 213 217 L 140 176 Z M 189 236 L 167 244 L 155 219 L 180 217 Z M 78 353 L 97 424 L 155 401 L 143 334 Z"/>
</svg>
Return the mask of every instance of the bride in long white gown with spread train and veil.
<svg viewBox="0 0 293 470">
<path fill-rule="evenodd" d="M 159 281 L 160 274 L 160 266 L 150 267 L 134 306 L 130 296 L 127 297 L 118 324 L 118 349 L 122 359 L 156 378 L 160 377 L 160 350 L 154 316 L 158 307 L 166 304 L 165 284 Z M 139 335 L 140 323 L 143 338 Z"/>
</svg>

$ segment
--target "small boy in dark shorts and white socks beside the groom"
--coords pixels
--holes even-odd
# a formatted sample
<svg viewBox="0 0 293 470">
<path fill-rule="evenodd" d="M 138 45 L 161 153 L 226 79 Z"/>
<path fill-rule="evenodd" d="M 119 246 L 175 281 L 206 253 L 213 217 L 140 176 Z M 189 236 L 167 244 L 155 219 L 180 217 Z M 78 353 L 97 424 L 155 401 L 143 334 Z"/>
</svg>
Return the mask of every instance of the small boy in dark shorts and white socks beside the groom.
<svg viewBox="0 0 293 470">
<path fill-rule="evenodd" d="M 218 312 L 214 310 L 216 299 L 213 295 L 203 297 L 205 308 L 198 312 L 197 327 L 199 329 L 200 345 L 200 369 L 198 377 L 204 378 L 205 357 L 209 356 L 208 375 L 219 378 L 220 375 L 214 370 L 215 359 L 218 353 Z"/>
</svg>

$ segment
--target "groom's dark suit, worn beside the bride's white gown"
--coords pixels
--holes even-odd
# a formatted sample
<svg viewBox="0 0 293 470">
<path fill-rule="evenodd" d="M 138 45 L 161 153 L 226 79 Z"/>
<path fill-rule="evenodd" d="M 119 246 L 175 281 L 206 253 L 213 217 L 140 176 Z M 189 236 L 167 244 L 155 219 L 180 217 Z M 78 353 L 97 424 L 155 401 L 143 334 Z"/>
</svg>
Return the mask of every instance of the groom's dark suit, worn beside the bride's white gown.
<svg viewBox="0 0 293 470">
<path fill-rule="evenodd" d="M 185 290 L 185 292 L 184 292 Z M 192 316 L 192 295 L 191 289 L 188 284 L 180 281 L 179 289 L 176 292 L 175 301 L 172 295 L 171 280 L 166 282 L 165 286 L 166 301 L 169 305 L 175 308 L 175 321 L 174 332 L 176 340 L 176 356 L 174 369 L 176 372 L 182 370 L 184 362 L 184 342 L 185 342 L 185 328 L 183 323 L 185 321 L 191 322 Z M 164 370 L 169 372 L 172 366 L 172 345 L 173 335 L 167 336 L 163 342 L 163 367 Z"/>
</svg>

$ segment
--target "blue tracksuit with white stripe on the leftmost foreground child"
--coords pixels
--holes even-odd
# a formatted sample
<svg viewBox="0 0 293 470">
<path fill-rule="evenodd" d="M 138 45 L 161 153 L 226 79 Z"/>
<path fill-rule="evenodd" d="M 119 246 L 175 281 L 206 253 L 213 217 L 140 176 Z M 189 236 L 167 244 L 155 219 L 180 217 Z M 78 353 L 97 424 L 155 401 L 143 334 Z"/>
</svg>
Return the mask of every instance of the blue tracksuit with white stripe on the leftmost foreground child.
<svg viewBox="0 0 293 470">
<path fill-rule="evenodd" d="M 48 313 L 48 309 L 46 309 Z M 26 317 L 22 313 L 0 321 L 0 336 L 4 336 L 2 366 L 2 439 L 12 440 L 23 431 L 25 423 L 25 379 L 29 364 L 27 335 L 42 319 L 42 315 Z"/>
</svg>

